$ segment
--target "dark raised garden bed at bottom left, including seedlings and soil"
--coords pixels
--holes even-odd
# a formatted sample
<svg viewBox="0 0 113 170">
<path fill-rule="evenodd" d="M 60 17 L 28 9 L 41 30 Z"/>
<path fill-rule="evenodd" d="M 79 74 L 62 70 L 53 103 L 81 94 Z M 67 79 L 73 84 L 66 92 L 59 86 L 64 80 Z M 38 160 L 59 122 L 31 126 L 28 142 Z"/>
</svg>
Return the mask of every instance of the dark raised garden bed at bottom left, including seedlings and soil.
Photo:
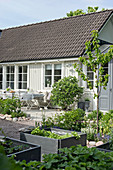
<svg viewBox="0 0 113 170">
<path fill-rule="evenodd" d="M 15 155 L 16 156 L 15 159 L 17 161 L 26 160 L 26 162 L 34 161 L 34 160 L 37 160 L 37 161 L 41 160 L 41 147 L 38 145 L 32 144 L 30 142 L 25 142 L 25 141 L 20 141 L 17 139 L 9 138 L 9 137 L 3 138 L 3 136 L 0 137 L 0 140 L 2 142 L 5 141 L 5 143 L 7 143 L 8 141 L 12 143 L 10 148 L 7 148 L 8 145 L 6 146 L 6 144 L 3 145 L 5 146 L 6 154 L 8 157 Z"/>
</svg>

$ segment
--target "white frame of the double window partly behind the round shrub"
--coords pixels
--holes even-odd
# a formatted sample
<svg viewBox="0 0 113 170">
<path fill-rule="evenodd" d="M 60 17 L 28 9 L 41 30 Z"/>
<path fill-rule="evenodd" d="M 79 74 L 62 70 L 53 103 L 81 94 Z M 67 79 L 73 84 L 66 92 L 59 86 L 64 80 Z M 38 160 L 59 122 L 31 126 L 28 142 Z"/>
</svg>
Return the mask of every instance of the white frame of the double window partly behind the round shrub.
<svg viewBox="0 0 113 170">
<path fill-rule="evenodd" d="M 45 66 L 46 65 L 52 65 L 52 74 L 51 74 L 51 86 L 50 87 L 45 87 Z M 43 80 L 43 85 L 44 85 L 44 89 L 51 89 L 52 88 L 52 85 L 54 84 L 54 66 L 56 64 L 60 64 L 61 65 L 61 75 L 56 75 L 56 76 L 61 76 L 61 78 L 63 77 L 63 64 L 62 63 L 46 63 L 44 64 L 44 72 L 43 72 L 43 76 L 44 76 L 44 80 Z M 48 75 L 49 76 L 49 75 Z"/>
</svg>

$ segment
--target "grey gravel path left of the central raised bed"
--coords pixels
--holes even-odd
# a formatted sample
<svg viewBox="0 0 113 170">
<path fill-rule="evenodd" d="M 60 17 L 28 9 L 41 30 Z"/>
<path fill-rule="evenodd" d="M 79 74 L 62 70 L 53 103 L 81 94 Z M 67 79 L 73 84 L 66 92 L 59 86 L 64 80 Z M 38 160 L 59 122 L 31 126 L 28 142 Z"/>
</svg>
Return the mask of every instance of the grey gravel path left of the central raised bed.
<svg viewBox="0 0 113 170">
<path fill-rule="evenodd" d="M 27 121 L 9 121 L 9 120 L 3 120 L 0 119 L 0 128 L 4 131 L 7 137 L 20 139 L 20 128 L 34 126 L 35 121 L 34 120 L 27 120 Z M 3 136 L 2 132 L 0 131 L 0 136 Z"/>
</svg>

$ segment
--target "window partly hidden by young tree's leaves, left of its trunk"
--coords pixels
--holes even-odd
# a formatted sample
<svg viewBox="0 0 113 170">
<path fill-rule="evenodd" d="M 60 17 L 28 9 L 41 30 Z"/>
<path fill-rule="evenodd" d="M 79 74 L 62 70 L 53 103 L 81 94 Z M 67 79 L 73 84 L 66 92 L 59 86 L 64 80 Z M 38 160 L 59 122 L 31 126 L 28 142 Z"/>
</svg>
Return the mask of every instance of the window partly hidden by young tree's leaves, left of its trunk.
<svg viewBox="0 0 113 170">
<path fill-rule="evenodd" d="M 94 86 L 94 72 L 91 70 L 91 67 L 87 67 L 87 77 L 88 77 L 89 81 L 91 82 L 91 87 L 93 89 L 93 86 Z M 87 88 L 89 88 L 88 84 L 87 84 Z"/>
</svg>

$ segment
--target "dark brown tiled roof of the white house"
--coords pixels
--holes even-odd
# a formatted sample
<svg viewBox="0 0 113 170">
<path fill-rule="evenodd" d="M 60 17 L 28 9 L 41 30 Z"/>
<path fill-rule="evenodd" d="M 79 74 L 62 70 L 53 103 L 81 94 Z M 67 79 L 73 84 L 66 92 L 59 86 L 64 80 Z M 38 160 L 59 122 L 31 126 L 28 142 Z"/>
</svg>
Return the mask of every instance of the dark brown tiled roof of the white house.
<svg viewBox="0 0 113 170">
<path fill-rule="evenodd" d="M 0 62 L 80 56 L 92 30 L 100 30 L 113 10 L 4 29 Z"/>
</svg>

